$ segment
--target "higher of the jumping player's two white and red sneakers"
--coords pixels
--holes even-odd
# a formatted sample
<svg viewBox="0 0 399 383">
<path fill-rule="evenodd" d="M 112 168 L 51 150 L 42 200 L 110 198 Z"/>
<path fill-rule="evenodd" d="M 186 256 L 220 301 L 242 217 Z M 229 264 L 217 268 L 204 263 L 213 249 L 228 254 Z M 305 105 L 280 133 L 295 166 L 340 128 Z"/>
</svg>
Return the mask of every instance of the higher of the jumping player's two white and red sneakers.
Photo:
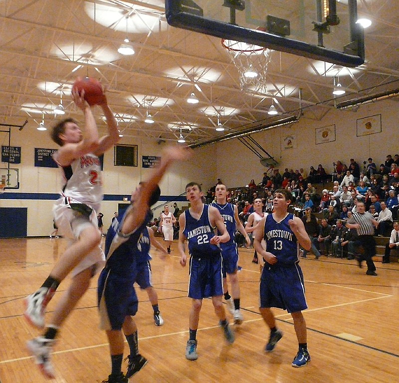
<svg viewBox="0 0 399 383">
<path fill-rule="evenodd" d="M 45 309 L 54 292 L 47 287 L 40 287 L 36 292 L 25 298 L 26 309 L 23 315 L 31 325 L 38 328 L 44 327 Z"/>
</svg>

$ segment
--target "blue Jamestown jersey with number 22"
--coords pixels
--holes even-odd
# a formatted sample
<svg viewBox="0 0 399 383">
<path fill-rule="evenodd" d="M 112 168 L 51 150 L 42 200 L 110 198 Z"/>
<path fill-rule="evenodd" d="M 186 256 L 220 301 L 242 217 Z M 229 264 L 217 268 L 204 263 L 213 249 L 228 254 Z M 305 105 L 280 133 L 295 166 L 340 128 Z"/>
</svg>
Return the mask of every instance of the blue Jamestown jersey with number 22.
<svg viewBox="0 0 399 383">
<path fill-rule="evenodd" d="M 208 205 L 203 205 L 199 220 L 192 217 L 189 209 L 184 212 L 186 225 L 183 234 L 189 242 L 189 253 L 194 257 L 220 256 L 220 248 L 209 243 L 215 233 L 210 226 L 208 208 Z"/>
</svg>

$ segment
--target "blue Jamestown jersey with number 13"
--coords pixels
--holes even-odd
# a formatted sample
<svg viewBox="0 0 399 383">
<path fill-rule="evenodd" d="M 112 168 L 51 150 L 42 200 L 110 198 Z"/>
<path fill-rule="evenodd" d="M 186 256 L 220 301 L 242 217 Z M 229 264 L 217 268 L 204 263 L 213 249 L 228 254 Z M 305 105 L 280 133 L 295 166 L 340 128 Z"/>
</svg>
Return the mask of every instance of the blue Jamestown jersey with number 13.
<svg viewBox="0 0 399 383">
<path fill-rule="evenodd" d="M 266 251 L 277 257 L 277 265 L 298 262 L 299 243 L 288 225 L 288 221 L 294 218 L 293 214 L 287 214 L 281 222 L 276 222 L 273 215 L 269 214 L 265 219 L 263 238 Z"/>
</svg>

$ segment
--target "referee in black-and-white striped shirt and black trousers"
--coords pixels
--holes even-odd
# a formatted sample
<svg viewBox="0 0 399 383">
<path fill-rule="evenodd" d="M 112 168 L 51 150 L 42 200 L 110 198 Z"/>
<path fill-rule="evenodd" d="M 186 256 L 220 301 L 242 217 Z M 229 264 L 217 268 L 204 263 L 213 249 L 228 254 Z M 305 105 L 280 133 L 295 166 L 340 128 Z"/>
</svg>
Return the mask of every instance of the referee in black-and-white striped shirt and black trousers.
<svg viewBox="0 0 399 383">
<path fill-rule="evenodd" d="M 367 275 L 375 275 L 376 266 L 373 262 L 372 257 L 376 255 L 376 241 L 374 239 L 374 226 L 378 226 L 378 222 L 373 218 L 369 212 L 365 212 L 365 204 L 361 201 L 357 203 L 357 211 L 353 213 L 346 227 L 349 229 L 356 229 L 358 232 L 357 242 L 359 242 L 364 249 L 364 255 L 360 255 L 359 267 L 362 267 L 362 261 L 366 260 L 367 263 Z"/>
</svg>

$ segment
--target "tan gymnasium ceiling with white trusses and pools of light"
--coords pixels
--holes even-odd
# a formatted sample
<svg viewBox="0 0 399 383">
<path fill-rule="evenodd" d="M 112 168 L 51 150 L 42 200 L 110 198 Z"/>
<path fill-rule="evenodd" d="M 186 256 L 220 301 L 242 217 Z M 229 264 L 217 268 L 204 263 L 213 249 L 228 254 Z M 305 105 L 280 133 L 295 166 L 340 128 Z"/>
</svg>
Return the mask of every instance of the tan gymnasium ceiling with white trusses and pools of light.
<svg viewBox="0 0 399 383">
<path fill-rule="evenodd" d="M 399 88 L 399 1 L 358 0 L 358 13 L 373 21 L 364 65 L 272 52 L 267 90 L 250 92 L 220 39 L 169 26 L 163 0 L 0 0 L 0 122 L 28 120 L 24 129 L 36 129 L 44 116 L 50 126 L 61 97 L 66 115 L 81 119 L 69 95 L 86 75 L 108 88 L 124 136 L 176 141 L 182 133 L 201 144 L 289 116 L 321 120 L 335 108 L 338 73 L 347 90 L 339 103 Z M 117 51 L 126 36 L 132 56 Z M 193 91 L 194 106 L 186 101 Z M 275 117 L 267 114 L 272 100 Z M 144 123 L 147 113 L 155 124 Z M 217 115 L 223 132 L 215 131 Z"/>
</svg>

